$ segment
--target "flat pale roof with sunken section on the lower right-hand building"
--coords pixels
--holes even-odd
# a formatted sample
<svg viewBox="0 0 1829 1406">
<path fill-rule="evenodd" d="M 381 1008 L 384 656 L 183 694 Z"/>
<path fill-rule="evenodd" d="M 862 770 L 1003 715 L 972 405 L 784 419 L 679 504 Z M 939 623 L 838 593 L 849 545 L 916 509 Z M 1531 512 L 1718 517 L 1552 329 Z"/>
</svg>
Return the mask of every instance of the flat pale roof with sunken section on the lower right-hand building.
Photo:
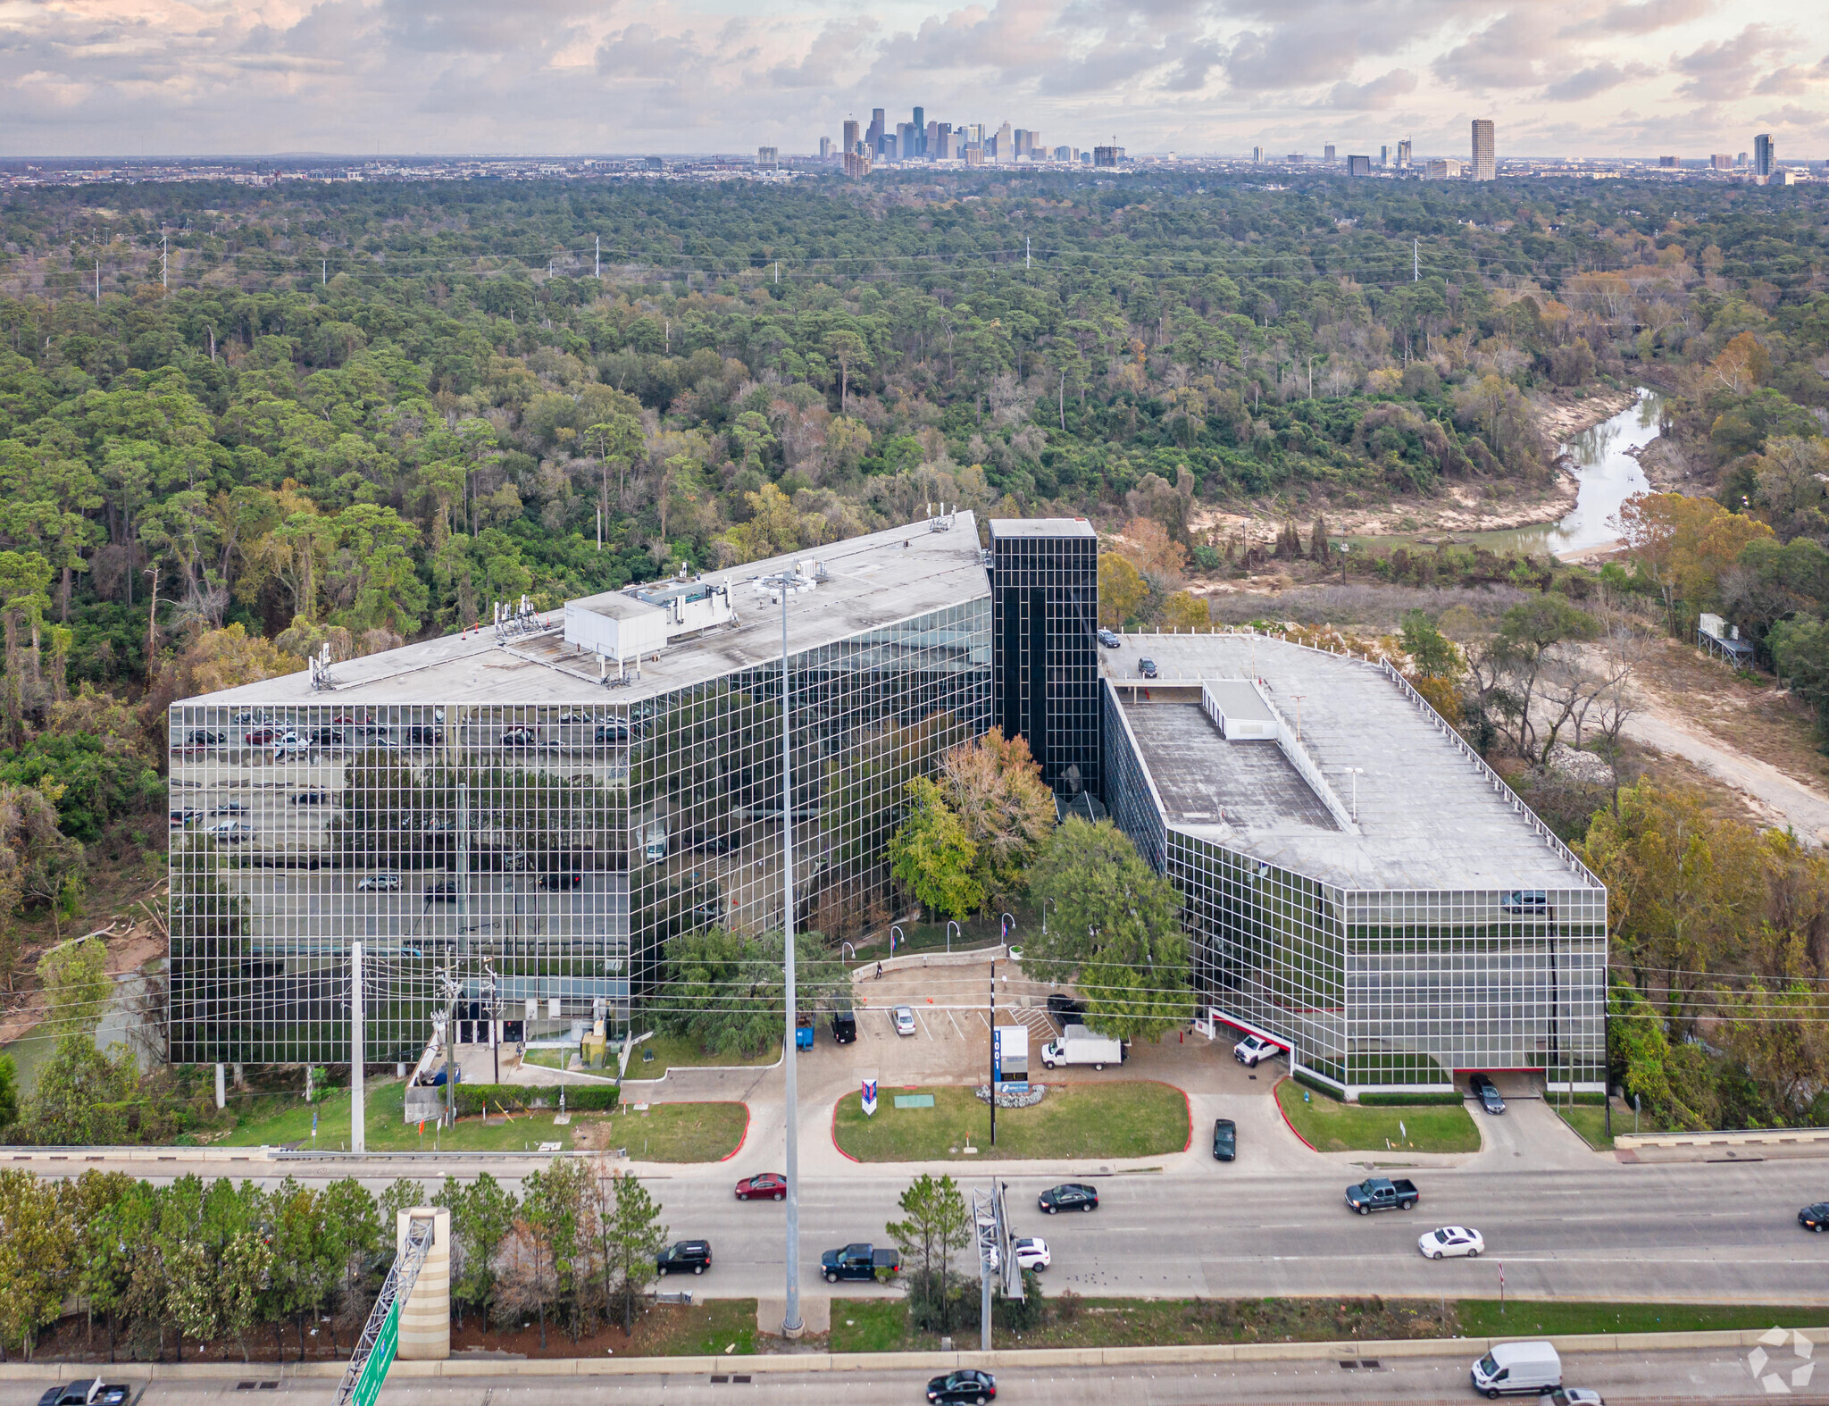
<svg viewBox="0 0 1829 1406">
<path fill-rule="evenodd" d="M 1377 664 L 1253 634 L 1128 634 L 1101 655 L 1176 830 L 1342 889 L 1599 889 Z M 1138 676 L 1139 656 L 1158 678 Z M 1353 825 L 1277 740 L 1220 735 L 1200 686 L 1231 697 L 1249 689 L 1218 680 L 1247 678 Z"/>
</svg>

